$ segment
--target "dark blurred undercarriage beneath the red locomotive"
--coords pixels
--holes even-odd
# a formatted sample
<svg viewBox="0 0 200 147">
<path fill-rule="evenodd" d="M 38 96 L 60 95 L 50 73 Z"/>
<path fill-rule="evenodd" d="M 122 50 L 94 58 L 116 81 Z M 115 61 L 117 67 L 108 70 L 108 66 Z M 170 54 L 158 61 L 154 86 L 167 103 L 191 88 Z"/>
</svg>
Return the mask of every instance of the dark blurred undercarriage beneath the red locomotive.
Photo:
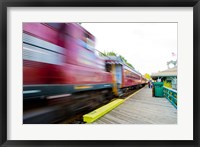
<svg viewBox="0 0 200 147">
<path fill-rule="evenodd" d="M 60 97 L 37 97 L 24 100 L 24 124 L 53 124 L 71 119 L 108 103 L 112 89 L 78 92 Z M 68 122 L 70 123 L 70 122 Z"/>
</svg>

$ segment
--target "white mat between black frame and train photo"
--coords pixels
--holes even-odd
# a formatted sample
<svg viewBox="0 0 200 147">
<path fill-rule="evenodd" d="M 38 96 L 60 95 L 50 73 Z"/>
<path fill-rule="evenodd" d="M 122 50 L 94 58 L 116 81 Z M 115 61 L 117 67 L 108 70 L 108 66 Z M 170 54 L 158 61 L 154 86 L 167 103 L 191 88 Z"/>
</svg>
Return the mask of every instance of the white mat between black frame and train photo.
<svg viewBox="0 0 200 147">
<path fill-rule="evenodd" d="M 174 125 L 23 125 L 23 22 L 177 22 L 178 123 Z M 8 140 L 192 140 L 193 8 L 31 8 L 7 9 Z"/>
</svg>

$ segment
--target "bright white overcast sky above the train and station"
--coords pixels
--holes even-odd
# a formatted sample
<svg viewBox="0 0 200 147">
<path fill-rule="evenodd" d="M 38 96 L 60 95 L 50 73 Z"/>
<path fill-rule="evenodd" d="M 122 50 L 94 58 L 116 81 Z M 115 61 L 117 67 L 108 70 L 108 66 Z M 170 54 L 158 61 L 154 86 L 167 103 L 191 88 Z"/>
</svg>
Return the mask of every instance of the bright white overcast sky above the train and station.
<svg viewBox="0 0 200 147">
<path fill-rule="evenodd" d="M 95 48 L 122 55 L 137 71 L 152 74 L 177 59 L 177 23 L 82 23 Z M 174 53 L 174 55 L 172 55 Z"/>
</svg>

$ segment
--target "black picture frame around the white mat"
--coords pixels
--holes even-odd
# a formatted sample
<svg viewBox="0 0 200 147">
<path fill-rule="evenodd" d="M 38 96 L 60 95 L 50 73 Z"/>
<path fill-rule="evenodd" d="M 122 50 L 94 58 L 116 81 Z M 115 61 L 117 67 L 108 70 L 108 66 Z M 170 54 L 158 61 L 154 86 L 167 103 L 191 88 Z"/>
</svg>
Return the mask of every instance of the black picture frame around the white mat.
<svg viewBox="0 0 200 147">
<path fill-rule="evenodd" d="M 141 140 L 141 141 L 24 141 L 7 140 L 7 8 L 8 7 L 193 7 L 193 140 Z M 2 0 L 0 2 L 0 145 L 1 146 L 199 146 L 199 0 Z M 190 79 L 191 80 L 191 79 Z M 128 133 L 128 132 L 127 132 Z M 184 132 L 183 133 L 187 133 Z"/>
</svg>

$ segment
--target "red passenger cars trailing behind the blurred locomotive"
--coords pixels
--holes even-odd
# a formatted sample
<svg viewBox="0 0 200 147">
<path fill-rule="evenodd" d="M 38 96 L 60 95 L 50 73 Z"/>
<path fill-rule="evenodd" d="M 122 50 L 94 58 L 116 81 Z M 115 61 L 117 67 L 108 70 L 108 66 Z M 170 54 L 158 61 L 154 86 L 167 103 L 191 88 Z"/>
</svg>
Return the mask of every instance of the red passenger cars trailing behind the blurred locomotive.
<svg viewBox="0 0 200 147">
<path fill-rule="evenodd" d="M 130 88 L 141 87 L 147 83 L 146 78 L 132 67 L 126 65 L 120 57 L 106 57 L 105 62 L 106 71 L 113 73 L 113 92 L 115 95 L 122 95 Z"/>
</svg>

